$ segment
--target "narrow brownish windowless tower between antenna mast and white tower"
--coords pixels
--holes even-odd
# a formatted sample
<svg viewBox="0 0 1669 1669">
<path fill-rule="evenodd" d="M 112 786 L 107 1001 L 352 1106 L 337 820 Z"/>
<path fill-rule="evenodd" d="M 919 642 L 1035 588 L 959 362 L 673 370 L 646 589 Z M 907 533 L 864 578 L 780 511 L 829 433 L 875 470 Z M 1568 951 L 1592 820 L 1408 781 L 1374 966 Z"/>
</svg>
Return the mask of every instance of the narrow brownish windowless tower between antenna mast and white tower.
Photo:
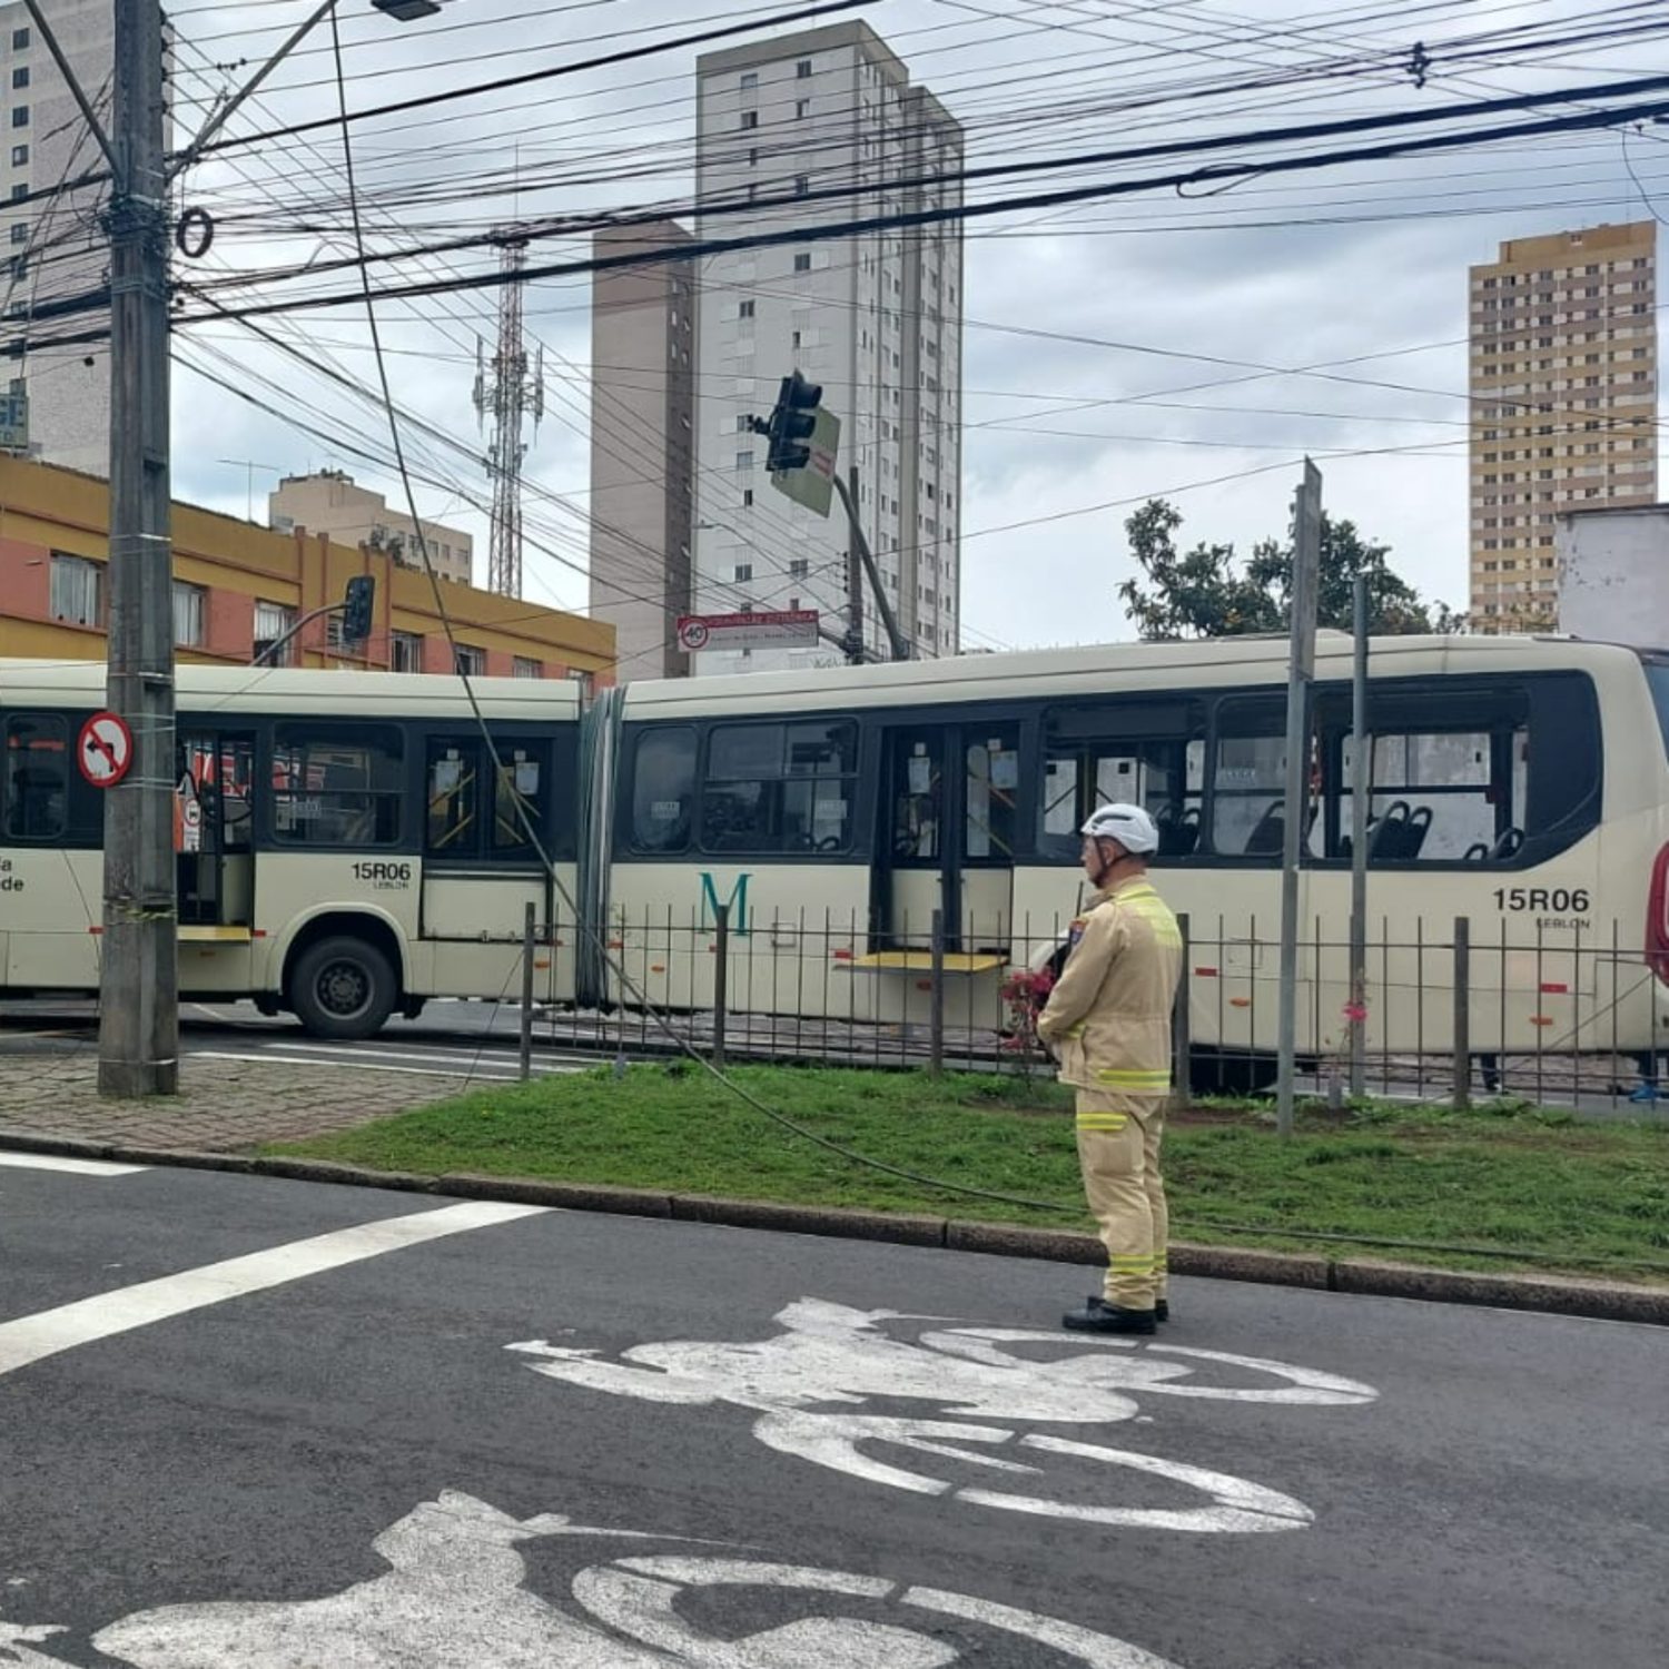
<svg viewBox="0 0 1669 1669">
<path fill-rule="evenodd" d="M 664 255 L 673 220 L 599 232 L 592 254 Z M 616 678 L 684 678 L 693 613 L 694 272 L 688 260 L 604 267 L 591 284 L 591 618 L 614 628 Z"/>
</svg>

